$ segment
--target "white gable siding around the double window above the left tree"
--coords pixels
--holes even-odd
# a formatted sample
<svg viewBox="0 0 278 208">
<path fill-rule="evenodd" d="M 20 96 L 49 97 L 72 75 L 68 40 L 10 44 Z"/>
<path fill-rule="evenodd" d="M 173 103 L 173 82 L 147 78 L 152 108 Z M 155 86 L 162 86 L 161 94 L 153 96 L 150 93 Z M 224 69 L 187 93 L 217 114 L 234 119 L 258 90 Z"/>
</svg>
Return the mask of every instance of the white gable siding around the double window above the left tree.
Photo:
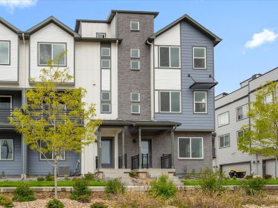
<svg viewBox="0 0 278 208">
<path fill-rule="evenodd" d="M 40 71 L 45 67 L 38 67 L 38 42 L 66 43 L 67 44 L 67 67 L 74 75 L 74 37 L 56 24 L 48 24 L 30 37 L 30 77 L 38 81 Z M 61 70 L 65 67 L 60 67 Z M 73 83 L 74 80 L 71 80 Z"/>
</svg>

